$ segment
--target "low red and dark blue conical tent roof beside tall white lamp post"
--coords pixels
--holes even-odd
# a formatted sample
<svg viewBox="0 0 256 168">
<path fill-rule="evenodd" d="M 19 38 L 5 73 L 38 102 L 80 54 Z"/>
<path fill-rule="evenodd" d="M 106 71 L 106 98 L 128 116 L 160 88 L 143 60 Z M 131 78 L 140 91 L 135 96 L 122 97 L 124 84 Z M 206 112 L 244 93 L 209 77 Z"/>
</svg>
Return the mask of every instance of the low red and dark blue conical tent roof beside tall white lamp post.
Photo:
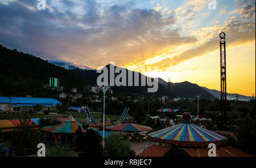
<svg viewBox="0 0 256 168">
<path fill-rule="evenodd" d="M 151 127 L 141 126 L 133 123 L 121 124 L 118 126 L 109 127 L 108 129 L 115 130 L 115 131 L 150 131 L 152 130 Z"/>
</svg>

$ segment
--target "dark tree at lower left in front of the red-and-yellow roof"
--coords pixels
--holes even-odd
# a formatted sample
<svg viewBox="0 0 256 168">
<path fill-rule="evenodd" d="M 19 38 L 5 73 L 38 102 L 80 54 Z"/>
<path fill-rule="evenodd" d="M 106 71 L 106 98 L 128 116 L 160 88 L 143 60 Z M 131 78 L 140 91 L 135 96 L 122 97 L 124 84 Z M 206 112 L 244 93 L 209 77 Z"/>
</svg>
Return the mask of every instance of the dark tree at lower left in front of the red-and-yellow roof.
<svg viewBox="0 0 256 168">
<path fill-rule="evenodd" d="M 35 129 L 35 124 L 26 116 L 19 119 L 18 130 L 11 132 L 10 149 L 16 156 L 36 154 L 38 144 L 43 141 L 43 134 Z"/>
</svg>

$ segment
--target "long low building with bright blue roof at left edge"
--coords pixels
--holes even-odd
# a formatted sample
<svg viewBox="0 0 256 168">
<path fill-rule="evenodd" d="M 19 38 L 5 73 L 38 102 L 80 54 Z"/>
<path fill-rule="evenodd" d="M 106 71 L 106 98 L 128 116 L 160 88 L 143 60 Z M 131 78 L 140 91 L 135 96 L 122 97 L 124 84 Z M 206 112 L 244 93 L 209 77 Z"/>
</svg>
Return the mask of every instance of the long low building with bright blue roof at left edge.
<svg viewBox="0 0 256 168">
<path fill-rule="evenodd" d="M 55 111 L 57 105 L 61 102 L 54 98 L 37 98 L 37 97 L 12 97 L 11 105 L 9 97 L 0 97 L 0 111 Z"/>
</svg>

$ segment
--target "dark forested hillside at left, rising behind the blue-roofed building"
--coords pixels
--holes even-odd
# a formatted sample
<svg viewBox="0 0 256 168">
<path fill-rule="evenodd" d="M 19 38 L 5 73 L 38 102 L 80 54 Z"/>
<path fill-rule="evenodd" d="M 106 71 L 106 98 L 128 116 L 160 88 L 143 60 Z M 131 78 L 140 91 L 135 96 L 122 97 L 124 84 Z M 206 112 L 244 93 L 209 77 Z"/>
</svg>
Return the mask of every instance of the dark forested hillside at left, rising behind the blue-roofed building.
<svg viewBox="0 0 256 168">
<path fill-rule="evenodd" d="M 30 54 L 11 50 L 0 45 L 0 95 L 1 96 L 51 96 L 55 94 L 43 88 L 49 77 L 60 79 L 64 91 L 72 87 L 84 88 L 84 81 L 71 70 L 48 63 Z"/>
</svg>

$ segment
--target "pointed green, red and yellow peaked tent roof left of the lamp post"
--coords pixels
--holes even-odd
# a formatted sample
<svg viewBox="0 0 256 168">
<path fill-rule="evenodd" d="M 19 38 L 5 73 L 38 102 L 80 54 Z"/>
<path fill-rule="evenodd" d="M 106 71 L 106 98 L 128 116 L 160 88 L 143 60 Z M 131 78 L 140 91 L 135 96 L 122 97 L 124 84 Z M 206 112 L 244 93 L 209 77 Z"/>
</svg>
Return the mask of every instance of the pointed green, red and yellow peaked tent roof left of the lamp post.
<svg viewBox="0 0 256 168">
<path fill-rule="evenodd" d="M 72 115 L 69 115 L 68 119 L 63 123 L 56 126 L 47 126 L 42 128 L 42 130 L 51 133 L 76 133 L 79 126 L 81 127 L 82 132 L 86 132 L 84 128 L 82 128 L 82 124 L 77 122 Z"/>
</svg>

